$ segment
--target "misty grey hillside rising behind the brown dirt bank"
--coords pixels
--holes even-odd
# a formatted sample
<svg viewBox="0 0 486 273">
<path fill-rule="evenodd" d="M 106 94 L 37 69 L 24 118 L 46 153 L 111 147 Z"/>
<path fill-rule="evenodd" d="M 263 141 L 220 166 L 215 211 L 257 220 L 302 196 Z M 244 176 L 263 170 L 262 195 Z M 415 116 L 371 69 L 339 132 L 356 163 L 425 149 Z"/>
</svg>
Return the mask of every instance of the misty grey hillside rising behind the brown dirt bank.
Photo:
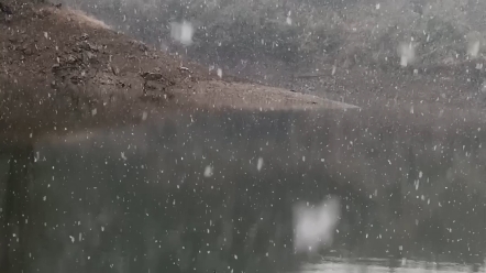
<svg viewBox="0 0 486 273">
<path fill-rule="evenodd" d="M 253 81 L 357 105 L 424 86 L 432 100 L 451 85 L 484 100 L 483 74 L 463 66 L 483 59 L 486 3 L 479 0 L 65 2 L 151 45 Z M 190 45 L 170 39 L 174 22 L 194 26 Z"/>
</svg>

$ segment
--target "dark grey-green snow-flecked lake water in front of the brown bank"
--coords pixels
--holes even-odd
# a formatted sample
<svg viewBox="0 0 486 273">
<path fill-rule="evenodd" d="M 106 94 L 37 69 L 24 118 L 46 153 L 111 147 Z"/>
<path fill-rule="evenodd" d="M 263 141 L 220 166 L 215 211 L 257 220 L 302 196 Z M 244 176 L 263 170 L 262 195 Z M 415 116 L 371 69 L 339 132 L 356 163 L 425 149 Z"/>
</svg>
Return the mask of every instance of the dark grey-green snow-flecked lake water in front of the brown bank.
<svg viewBox="0 0 486 273">
<path fill-rule="evenodd" d="M 319 272 L 329 255 L 478 270 L 485 130 L 362 114 L 174 113 L 11 148 L 1 272 Z M 332 244 L 296 253 L 294 206 L 331 196 Z"/>
</svg>

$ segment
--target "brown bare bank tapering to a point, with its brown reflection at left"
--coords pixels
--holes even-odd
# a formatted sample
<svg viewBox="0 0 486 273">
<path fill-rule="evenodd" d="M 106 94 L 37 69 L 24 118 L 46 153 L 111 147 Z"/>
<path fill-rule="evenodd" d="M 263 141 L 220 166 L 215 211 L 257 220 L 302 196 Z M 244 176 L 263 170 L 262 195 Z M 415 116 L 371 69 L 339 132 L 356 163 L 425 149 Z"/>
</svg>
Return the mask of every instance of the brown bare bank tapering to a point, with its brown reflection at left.
<svg viewBox="0 0 486 273">
<path fill-rule="evenodd" d="M 0 12 L 0 129 L 19 138 L 46 128 L 143 119 L 168 106 L 346 108 L 290 90 L 222 81 L 79 11 L 47 4 Z M 164 106 L 164 107 L 162 107 Z M 47 130 L 47 131 L 48 131 Z M 24 136 L 25 136 L 24 135 Z"/>
</svg>

